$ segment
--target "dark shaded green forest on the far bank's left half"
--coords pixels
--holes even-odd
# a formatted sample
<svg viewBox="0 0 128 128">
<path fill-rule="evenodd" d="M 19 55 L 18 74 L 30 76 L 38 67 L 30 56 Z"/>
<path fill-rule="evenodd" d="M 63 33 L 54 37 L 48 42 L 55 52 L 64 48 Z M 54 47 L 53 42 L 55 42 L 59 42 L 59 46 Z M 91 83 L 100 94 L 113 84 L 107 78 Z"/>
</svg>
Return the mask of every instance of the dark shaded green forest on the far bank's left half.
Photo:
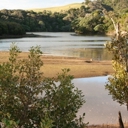
<svg viewBox="0 0 128 128">
<path fill-rule="evenodd" d="M 13 23 L 16 24 L 16 28 L 22 27 L 25 32 L 38 32 L 38 31 L 71 31 L 70 21 L 63 20 L 66 14 L 63 13 L 52 13 L 50 11 L 43 12 L 33 12 L 33 11 L 25 11 L 25 10 L 0 10 L 0 23 L 7 25 L 9 27 L 13 27 Z M 6 22 L 5 22 L 6 21 Z M 17 25 L 18 23 L 18 25 Z M 66 27 L 68 25 L 68 28 Z M 7 26 L 7 30 L 11 31 L 10 33 L 4 33 L 2 25 L 0 25 L 1 35 L 2 34 L 19 34 L 20 31 L 13 33 L 13 29 L 9 29 Z"/>
</svg>

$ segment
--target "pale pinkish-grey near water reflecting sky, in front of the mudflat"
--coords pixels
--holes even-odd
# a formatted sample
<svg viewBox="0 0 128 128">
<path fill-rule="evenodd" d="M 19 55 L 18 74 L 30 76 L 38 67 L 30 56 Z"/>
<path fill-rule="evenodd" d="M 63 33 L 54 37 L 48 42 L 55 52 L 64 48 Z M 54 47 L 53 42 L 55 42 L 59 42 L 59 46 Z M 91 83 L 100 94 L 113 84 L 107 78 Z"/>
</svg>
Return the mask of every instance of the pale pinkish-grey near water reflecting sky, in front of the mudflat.
<svg viewBox="0 0 128 128">
<path fill-rule="evenodd" d="M 128 120 L 126 106 L 120 106 L 113 101 L 108 95 L 108 90 L 105 90 L 107 78 L 92 77 L 73 81 L 75 86 L 83 91 L 86 100 L 78 115 L 85 112 L 85 122 L 89 122 L 89 124 L 118 123 L 118 111 L 121 111 L 124 121 Z"/>
</svg>

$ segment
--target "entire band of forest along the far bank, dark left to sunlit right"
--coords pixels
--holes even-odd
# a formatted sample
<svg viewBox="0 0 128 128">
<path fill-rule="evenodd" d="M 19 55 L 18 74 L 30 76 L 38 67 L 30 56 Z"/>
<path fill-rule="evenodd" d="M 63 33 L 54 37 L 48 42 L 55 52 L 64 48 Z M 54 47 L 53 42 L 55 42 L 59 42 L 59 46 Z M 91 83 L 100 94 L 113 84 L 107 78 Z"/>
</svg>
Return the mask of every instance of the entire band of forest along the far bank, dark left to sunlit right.
<svg viewBox="0 0 128 128">
<path fill-rule="evenodd" d="M 76 32 L 109 34 L 112 17 L 128 31 L 128 0 L 85 0 L 80 8 L 63 12 L 0 10 L 0 35 L 23 35 L 25 32 Z"/>
</svg>

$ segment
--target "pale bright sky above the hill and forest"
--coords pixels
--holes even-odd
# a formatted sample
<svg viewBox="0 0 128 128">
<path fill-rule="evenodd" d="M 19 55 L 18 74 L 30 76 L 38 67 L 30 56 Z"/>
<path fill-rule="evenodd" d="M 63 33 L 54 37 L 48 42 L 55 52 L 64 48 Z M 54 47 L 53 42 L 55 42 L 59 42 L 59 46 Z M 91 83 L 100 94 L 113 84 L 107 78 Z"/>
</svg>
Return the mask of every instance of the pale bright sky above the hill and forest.
<svg viewBox="0 0 128 128">
<path fill-rule="evenodd" d="M 0 10 L 47 8 L 82 2 L 84 0 L 0 0 Z"/>
</svg>

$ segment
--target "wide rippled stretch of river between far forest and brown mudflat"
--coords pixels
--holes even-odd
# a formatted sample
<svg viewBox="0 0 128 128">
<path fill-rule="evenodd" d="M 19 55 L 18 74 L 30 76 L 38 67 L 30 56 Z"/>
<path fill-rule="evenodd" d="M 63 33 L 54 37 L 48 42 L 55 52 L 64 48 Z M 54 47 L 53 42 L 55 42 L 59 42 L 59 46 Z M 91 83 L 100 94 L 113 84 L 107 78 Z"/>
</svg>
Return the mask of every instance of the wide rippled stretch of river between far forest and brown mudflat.
<svg viewBox="0 0 128 128">
<path fill-rule="evenodd" d="M 75 36 L 74 33 L 34 33 L 50 37 L 27 37 L 17 39 L 1 39 L 0 50 L 8 50 L 11 43 L 15 42 L 22 51 L 28 51 L 31 46 L 39 45 L 45 54 L 85 57 L 100 60 L 111 59 L 110 54 L 104 49 L 107 36 Z"/>
</svg>

